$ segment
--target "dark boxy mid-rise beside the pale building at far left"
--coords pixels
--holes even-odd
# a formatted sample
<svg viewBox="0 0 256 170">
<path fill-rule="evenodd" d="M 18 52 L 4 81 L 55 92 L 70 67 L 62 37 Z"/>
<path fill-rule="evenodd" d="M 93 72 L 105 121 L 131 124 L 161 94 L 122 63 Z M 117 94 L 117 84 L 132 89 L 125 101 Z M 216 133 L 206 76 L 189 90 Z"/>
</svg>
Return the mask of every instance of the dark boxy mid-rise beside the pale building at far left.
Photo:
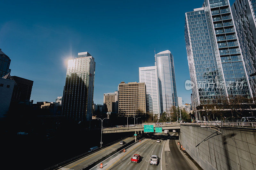
<svg viewBox="0 0 256 170">
<path fill-rule="evenodd" d="M 12 76 L 12 78 L 16 82 L 13 88 L 12 102 L 29 102 L 34 81 L 18 76 Z"/>
</svg>

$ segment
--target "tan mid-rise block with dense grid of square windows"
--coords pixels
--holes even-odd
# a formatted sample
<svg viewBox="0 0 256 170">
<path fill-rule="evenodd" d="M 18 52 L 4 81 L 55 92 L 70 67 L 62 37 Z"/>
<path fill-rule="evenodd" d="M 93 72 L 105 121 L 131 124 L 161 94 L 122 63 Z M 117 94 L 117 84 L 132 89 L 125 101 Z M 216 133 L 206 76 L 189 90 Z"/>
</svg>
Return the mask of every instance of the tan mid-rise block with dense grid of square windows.
<svg viewBox="0 0 256 170">
<path fill-rule="evenodd" d="M 118 86 L 119 116 L 134 117 L 146 114 L 146 85 L 145 83 L 124 83 Z"/>
</svg>

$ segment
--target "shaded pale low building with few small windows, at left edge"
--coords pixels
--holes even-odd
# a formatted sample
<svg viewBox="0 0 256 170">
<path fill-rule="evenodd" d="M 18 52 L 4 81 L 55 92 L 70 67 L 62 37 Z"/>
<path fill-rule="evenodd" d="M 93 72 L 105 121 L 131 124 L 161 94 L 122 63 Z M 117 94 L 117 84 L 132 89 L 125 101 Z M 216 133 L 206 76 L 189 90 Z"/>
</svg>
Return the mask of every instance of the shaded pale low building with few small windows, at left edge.
<svg viewBox="0 0 256 170">
<path fill-rule="evenodd" d="M 10 77 L 0 78 L 0 118 L 3 118 L 4 114 L 9 110 L 12 99 L 12 91 L 15 81 L 10 79 Z"/>
</svg>

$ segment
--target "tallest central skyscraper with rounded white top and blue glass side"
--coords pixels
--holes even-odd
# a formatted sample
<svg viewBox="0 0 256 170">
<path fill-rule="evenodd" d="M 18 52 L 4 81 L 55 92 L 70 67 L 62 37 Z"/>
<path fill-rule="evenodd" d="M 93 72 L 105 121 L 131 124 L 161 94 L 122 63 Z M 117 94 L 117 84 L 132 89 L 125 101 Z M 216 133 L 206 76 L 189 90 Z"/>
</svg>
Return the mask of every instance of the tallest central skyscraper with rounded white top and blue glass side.
<svg viewBox="0 0 256 170">
<path fill-rule="evenodd" d="M 169 50 L 155 55 L 155 66 L 159 85 L 161 113 L 170 113 L 172 106 L 178 107 L 173 56 Z"/>
</svg>

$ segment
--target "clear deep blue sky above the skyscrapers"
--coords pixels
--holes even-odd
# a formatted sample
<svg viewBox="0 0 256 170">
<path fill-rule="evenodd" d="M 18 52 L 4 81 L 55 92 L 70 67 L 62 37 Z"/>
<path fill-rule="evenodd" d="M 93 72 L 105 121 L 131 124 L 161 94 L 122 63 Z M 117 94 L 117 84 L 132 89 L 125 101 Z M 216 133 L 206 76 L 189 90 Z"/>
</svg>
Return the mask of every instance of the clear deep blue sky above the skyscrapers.
<svg viewBox="0 0 256 170">
<path fill-rule="evenodd" d="M 234 1 L 230 1 L 230 4 Z M 2 1 L 0 48 L 11 75 L 34 81 L 31 100 L 62 96 L 67 60 L 88 51 L 96 62 L 94 102 L 121 81 L 139 81 L 139 67 L 156 53 L 174 56 L 177 93 L 191 103 L 184 40 L 185 12 L 203 1 Z"/>
</svg>

